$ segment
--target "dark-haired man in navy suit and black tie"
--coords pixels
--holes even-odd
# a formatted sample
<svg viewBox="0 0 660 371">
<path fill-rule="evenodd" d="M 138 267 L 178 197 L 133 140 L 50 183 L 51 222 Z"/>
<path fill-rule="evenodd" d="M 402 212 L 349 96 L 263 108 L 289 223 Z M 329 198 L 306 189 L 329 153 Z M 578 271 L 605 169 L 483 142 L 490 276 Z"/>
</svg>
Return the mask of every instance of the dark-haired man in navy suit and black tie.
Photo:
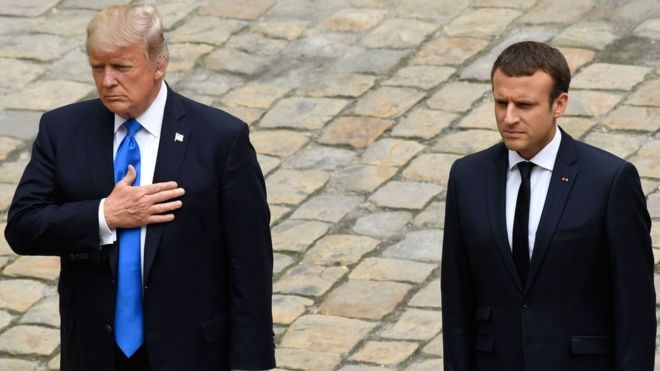
<svg viewBox="0 0 660 371">
<path fill-rule="evenodd" d="M 503 143 L 457 160 L 442 256 L 445 371 L 650 371 L 651 221 L 635 167 L 557 126 L 570 72 L 542 43 L 492 70 Z"/>
</svg>

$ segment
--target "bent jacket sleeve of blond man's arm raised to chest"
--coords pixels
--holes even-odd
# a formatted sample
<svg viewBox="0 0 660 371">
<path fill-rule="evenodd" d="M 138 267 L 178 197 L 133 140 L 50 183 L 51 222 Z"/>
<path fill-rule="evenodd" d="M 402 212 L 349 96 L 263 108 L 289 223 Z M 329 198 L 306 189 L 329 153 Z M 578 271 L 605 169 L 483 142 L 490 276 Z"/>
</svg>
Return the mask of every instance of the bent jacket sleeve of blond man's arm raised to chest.
<svg viewBox="0 0 660 371">
<path fill-rule="evenodd" d="M 100 199 L 71 202 L 61 196 L 55 144 L 46 121 L 42 116 L 32 157 L 9 209 L 5 237 L 23 255 L 98 251 Z"/>
</svg>

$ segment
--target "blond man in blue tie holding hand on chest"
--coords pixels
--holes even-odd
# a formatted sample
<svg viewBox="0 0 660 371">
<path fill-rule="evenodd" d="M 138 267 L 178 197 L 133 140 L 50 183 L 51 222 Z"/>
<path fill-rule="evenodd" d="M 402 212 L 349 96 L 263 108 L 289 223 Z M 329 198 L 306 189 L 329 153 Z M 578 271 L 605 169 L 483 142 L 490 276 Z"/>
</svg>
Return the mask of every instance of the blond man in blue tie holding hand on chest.
<svg viewBox="0 0 660 371">
<path fill-rule="evenodd" d="M 248 127 L 165 84 L 153 6 L 101 11 L 86 46 L 99 99 L 42 116 L 5 231 L 19 254 L 61 256 L 61 369 L 275 367 Z"/>
</svg>

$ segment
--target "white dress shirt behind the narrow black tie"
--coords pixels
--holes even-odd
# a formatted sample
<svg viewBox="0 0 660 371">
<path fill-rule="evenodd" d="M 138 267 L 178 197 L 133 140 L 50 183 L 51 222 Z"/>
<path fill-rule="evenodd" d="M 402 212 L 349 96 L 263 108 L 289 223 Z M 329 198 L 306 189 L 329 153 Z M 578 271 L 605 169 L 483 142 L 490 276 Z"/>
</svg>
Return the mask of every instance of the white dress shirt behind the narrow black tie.
<svg viewBox="0 0 660 371">
<path fill-rule="evenodd" d="M 532 168 L 530 176 L 531 195 L 529 198 L 529 258 L 532 258 L 534 241 L 536 241 L 536 230 L 545 205 L 545 198 L 550 187 L 552 169 L 555 166 L 559 144 L 561 143 L 561 131 L 555 126 L 555 137 L 543 149 L 529 161 L 536 166 Z M 509 171 L 506 175 L 506 230 L 509 237 L 509 247 L 513 246 L 513 219 L 516 214 L 516 201 L 518 189 L 520 188 L 520 170 L 518 164 L 527 161 L 516 151 L 509 150 Z"/>
</svg>

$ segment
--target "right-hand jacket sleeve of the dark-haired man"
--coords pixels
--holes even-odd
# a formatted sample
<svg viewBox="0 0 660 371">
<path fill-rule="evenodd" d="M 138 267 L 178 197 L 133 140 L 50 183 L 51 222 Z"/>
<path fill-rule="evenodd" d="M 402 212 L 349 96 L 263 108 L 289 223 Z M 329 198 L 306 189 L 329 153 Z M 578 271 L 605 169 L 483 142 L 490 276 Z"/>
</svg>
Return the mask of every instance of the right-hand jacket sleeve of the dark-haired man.
<svg viewBox="0 0 660 371">
<path fill-rule="evenodd" d="M 651 371 L 655 353 L 655 291 L 651 220 L 637 170 L 622 165 L 607 210 L 607 243 L 615 295 L 615 359 L 621 371 Z"/>
</svg>

